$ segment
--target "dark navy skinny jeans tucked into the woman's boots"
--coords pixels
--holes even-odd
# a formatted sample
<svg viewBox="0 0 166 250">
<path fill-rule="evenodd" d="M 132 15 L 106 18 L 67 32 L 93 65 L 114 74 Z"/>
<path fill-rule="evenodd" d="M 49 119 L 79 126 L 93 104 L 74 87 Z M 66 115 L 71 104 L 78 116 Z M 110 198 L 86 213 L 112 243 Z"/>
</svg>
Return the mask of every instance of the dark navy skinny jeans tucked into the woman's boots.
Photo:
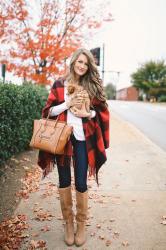
<svg viewBox="0 0 166 250">
<path fill-rule="evenodd" d="M 83 193 L 87 190 L 87 170 L 88 156 L 86 151 L 86 142 L 78 141 L 71 136 L 73 153 L 75 159 L 74 177 L 76 190 Z M 59 187 L 65 188 L 71 185 L 71 167 L 57 166 L 59 174 Z"/>
</svg>

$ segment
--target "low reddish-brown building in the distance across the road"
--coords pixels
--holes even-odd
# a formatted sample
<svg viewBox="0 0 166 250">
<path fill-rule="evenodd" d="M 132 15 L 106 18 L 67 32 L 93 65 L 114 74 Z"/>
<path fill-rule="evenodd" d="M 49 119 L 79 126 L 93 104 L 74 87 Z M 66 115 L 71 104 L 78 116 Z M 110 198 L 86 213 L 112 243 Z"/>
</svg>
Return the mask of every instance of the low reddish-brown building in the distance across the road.
<svg viewBox="0 0 166 250">
<path fill-rule="evenodd" d="M 139 91 L 133 86 L 116 91 L 116 100 L 137 101 L 138 97 Z"/>
</svg>

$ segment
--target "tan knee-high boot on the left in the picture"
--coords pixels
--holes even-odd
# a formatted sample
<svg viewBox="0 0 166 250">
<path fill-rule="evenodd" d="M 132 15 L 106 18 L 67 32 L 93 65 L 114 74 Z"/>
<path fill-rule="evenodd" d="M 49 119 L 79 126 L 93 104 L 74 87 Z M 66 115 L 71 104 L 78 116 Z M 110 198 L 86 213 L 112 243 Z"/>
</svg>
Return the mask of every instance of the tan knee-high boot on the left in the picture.
<svg viewBox="0 0 166 250">
<path fill-rule="evenodd" d="M 74 223 L 72 211 L 72 194 L 71 186 L 67 188 L 59 188 L 60 204 L 63 219 L 65 220 L 65 242 L 68 246 L 74 243 Z"/>
</svg>

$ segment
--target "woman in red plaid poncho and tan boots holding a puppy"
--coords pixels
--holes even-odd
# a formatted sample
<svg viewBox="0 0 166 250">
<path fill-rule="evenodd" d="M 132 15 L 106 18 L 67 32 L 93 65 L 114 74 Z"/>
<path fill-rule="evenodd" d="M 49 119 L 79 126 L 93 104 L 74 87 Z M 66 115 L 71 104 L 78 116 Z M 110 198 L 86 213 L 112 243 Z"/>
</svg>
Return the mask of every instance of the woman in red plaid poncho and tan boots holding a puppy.
<svg viewBox="0 0 166 250">
<path fill-rule="evenodd" d="M 103 93 L 93 55 L 86 49 L 78 49 L 72 56 L 70 71 L 65 79 L 55 81 L 49 94 L 43 117 L 48 112 L 52 119 L 67 121 L 73 126 L 73 134 L 66 145 L 64 155 L 39 152 L 39 166 L 46 176 L 56 162 L 59 174 L 60 204 L 65 224 L 67 245 L 81 246 L 85 243 L 85 222 L 88 209 L 87 171 L 98 183 L 99 168 L 106 161 L 105 149 L 109 147 L 109 111 Z M 83 90 L 74 98 L 67 93 L 69 85 L 82 86 Z M 85 96 L 89 96 L 90 109 L 79 109 Z M 86 98 L 87 100 L 87 98 Z M 71 156 L 73 157 L 76 188 L 76 221 L 74 235 Z"/>
</svg>

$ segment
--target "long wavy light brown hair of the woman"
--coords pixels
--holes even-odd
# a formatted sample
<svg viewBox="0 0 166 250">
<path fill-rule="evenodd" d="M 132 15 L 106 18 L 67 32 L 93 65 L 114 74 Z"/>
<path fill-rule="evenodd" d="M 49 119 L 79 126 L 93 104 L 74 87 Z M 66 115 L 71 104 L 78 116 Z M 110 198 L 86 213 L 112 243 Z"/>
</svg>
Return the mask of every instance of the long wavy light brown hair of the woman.
<svg viewBox="0 0 166 250">
<path fill-rule="evenodd" d="M 88 70 L 85 73 L 85 75 L 80 77 L 79 85 L 83 86 L 84 89 L 87 90 L 88 94 L 90 95 L 90 98 L 93 99 L 94 97 L 97 97 L 98 100 L 102 101 L 106 106 L 106 97 L 103 90 L 103 83 L 100 78 L 97 66 L 95 64 L 94 57 L 92 53 L 84 48 L 78 49 L 73 53 L 73 56 L 70 61 L 69 65 L 69 74 L 67 76 L 67 80 L 70 82 L 75 81 L 75 71 L 74 71 L 74 65 L 78 57 L 83 54 L 86 56 L 88 61 Z"/>
</svg>

